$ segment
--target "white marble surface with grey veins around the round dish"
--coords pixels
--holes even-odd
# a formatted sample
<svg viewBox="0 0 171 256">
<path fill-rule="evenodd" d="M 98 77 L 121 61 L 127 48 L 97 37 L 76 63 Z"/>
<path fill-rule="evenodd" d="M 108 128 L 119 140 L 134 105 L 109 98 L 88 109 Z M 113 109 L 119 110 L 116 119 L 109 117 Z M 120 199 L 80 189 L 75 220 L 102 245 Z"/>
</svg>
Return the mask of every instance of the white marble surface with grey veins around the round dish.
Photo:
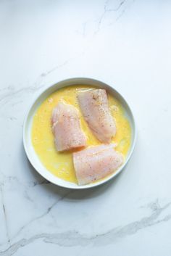
<svg viewBox="0 0 171 256">
<path fill-rule="evenodd" d="M 170 256 L 171 1 L 0 1 L 0 255 Z M 125 96 L 138 140 L 125 171 L 87 191 L 30 166 L 22 124 L 63 78 Z"/>
</svg>

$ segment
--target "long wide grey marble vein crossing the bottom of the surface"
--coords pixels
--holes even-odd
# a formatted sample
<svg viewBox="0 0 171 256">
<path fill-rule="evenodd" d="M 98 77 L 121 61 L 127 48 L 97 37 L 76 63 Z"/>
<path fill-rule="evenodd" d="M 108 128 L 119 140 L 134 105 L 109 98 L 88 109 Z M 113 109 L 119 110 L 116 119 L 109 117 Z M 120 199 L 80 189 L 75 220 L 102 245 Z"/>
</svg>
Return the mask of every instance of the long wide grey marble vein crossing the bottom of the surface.
<svg viewBox="0 0 171 256">
<path fill-rule="evenodd" d="M 124 238 L 125 236 L 133 235 L 143 228 L 148 228 L 150 226 L 169 221 L 171 219 L 171 214 L 166 215 L 160 220 L 157 220 L 157 218 L 170 205 L 171 202 L 161 207 L 159 205 L 159 201 L 156 200 L 149 205 L 152 212 L 148 217 L 141 218 L 141 220 L 138 221 L 133 221 L 132 223 L 122 227 L 112 228 L 104 234 L 97 234 L 90 237 L 84 236 L 83 234 L 78 233 L 78 231 L 67 231 L 61 234 L 36 234 L 29 239 L 20 239 L 20 241 L 12 244 L 8 249 L 1 251 L 0 255 L 14 255 L 18 249 L 25 247 L 38 239 L 43 239 L 43 242 L 45 243 L 57 244 L 58 246 L 62 247 L 88 246 L 89 244 L 103 246 L 104 244 L 111 244 L 118 239 Z"/>
</svg>

